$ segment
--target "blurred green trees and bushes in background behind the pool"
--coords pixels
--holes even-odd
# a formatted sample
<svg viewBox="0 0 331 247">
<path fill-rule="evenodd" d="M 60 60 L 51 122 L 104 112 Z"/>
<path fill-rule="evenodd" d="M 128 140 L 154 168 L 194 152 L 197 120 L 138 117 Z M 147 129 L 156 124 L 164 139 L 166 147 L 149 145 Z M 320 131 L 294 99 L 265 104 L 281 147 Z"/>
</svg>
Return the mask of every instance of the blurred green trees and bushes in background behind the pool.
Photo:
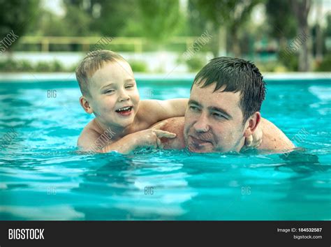
<svg viewBox="0 0 331 247">
<path fill-rule="evenodd" d="M 311 26 L 307 22 L 311 8 L 321 8 L 319 0 L 62 0 L 59 3 L 63 13 L 44 8 L 43 0 L 0 0 L 0 37 L 10 30 L 20 36 L 19 40 L 23 36 L 139 37 L 146 40 L 143 52 L 167 50 L 180 55 L 187 45 L 170 43 L 172 38 L 198 37 L 207 30 L 212 40 L 199 48 L 200 54 L 178 60 L 186 63 L 189 71 L 196 71 L 206 63 L 203 55 L 206 52 L 213 57 L 253 59 L 261 70 L 267 71 L 328 71 L 331 67 L 331 14 L 317 16 Z M 256 10 L 263 12 L 263 21 L 255 20 Z M 325 25 L 321 25 L 323 20 Z M 310 39 L 292 56 L 279 56 L 302 30 L 308 32 Z M 132 45 L 110 44 L 105 48 L 133 51 Z M 8 52 L 40 50 L 41 45 L 20 42 L 8 48 Z M 82 45 L 52 44 L 49 50 L 82 52 Z M 28 63 L 8 61 L 13 66 L 10 69 L 1 61 L 0 70 L 71 70 L 55 60 L 48 65 Z M 138 60 L 134 63 L 136 70 L 147 70 L 145 63 Z"/>
</svg>

